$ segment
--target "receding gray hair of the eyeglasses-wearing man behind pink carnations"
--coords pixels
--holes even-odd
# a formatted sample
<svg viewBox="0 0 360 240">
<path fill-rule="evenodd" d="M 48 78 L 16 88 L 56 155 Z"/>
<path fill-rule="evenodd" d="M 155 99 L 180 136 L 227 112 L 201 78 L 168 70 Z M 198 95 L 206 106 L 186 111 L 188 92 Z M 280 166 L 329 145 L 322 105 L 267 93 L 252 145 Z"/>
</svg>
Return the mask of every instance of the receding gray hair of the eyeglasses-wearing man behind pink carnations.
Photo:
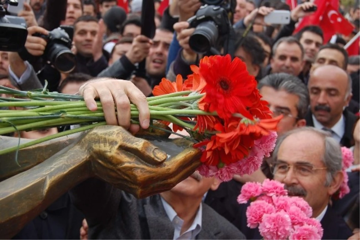
<svg viewBox="0 0 360 240">
<path fill-rule="evenodd" d="M 334 138 L 332 138 L 331 134 L 327 131 L 319 130 L 313 127 L 296 128 L 294 130 L 288 131 L 278 137 L 278 139 L 276 140 L 273 158 L 275 161 L 277 160 L 279 148 L 287 137 L 294 133 L 299 133 L 302 131 L 311 131 L 318 134 L 321 138 L 324 139 L 325 152 L 322 160 L 325 164 L 325 167 L 327 168 L 325 186 L 329 186 L 337 172 L 342 170 L 342 152 L 340 144 Z"/>
</svg>

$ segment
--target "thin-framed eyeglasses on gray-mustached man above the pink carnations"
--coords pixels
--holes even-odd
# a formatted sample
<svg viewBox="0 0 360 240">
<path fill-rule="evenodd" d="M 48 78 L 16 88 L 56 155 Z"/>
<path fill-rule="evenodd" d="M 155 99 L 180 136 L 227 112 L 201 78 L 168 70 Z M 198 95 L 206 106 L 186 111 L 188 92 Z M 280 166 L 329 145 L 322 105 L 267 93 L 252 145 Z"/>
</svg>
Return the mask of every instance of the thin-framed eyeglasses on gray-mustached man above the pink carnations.
<svg viewBox="0 0 360 240">
<path fill-rule="evenodd" d="M 313 165 L 307 163 L 288 164 L 285 162 L 275 162 L 271 164 L 270 167 L 273 175 L 279 177 L 285 177 L 290 167 L 293 167 L 294 174 L 299 177 L 308 177 L 315 174 L 317 170 L 327 169 L 327 167 L 314 167 Z"/>
</svg>

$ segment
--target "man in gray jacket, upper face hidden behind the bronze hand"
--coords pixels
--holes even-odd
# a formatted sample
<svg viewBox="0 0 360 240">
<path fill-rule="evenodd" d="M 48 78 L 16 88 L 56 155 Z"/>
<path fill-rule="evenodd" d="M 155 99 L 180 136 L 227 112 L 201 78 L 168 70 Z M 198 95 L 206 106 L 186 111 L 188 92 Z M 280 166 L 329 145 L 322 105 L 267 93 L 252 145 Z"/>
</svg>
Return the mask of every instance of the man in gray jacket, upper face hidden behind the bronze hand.
<svg viewBox="0 0 360 240">
<path fill-rule="evenodd" d="M 71 197 L 85 215 L 89 240 L 245 240 L 235 226 L 201 203 L 203 195 L 218 186 L 217 180 L 195 172 L 170 191 L 136 199 L 91 179 L 78 185 Z"/>
</svg>

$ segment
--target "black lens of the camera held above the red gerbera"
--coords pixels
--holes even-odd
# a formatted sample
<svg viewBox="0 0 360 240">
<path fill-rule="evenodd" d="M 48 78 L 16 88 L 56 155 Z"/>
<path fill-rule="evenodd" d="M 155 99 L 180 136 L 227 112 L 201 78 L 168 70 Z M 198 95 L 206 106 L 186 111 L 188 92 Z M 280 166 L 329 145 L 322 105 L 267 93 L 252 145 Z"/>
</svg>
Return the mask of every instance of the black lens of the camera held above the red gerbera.
<svg viewBox="0 0 360 240">
<path fill-rule="evenodd" d="M 210 50 L 219 37 L 219 30 L 212 21 L 202 22 L 190 36 L 189 46 L 199 54 L 204 54 Z"/>
</svg>

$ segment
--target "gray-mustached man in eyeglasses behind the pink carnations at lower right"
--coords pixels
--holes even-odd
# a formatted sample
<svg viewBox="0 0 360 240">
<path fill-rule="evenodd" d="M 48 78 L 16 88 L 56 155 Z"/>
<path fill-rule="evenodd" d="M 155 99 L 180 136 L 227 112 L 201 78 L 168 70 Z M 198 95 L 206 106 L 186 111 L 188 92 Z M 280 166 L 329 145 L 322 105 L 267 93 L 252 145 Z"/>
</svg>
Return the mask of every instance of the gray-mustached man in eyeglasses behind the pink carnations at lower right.
<svg viewBox="0 0 360 240">
<path fill-rule="evenodd" d="M 285 184 L 291 196 L 301 197 L 321 222 L 322 240 L 347 240 L 350 228 L 329 205 L 343 181 L 342 153 L 330 133 L 312 127 L 297 128 L 278 138 L 273 152 L 274 180 Z"/>
</svg>

